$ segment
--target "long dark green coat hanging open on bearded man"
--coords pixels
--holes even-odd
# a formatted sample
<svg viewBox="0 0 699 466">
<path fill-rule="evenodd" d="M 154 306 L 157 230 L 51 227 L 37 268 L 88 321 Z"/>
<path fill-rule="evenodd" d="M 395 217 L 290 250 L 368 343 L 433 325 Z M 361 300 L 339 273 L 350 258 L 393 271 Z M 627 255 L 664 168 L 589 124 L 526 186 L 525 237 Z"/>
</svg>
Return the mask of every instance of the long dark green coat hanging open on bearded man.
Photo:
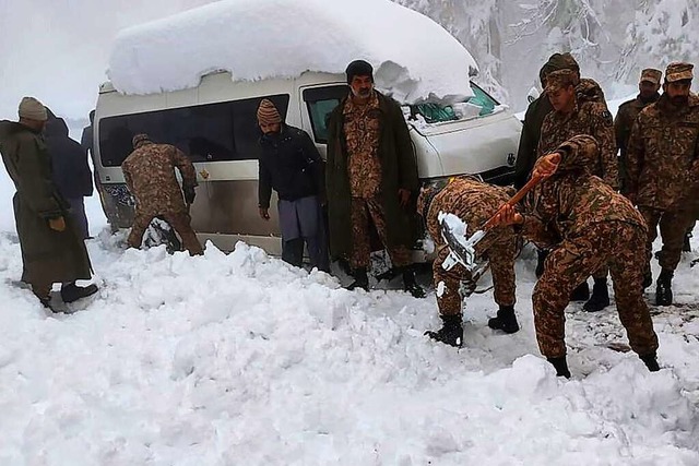
<svg viewBox="0 0 699 466">
<path fill-rule="evenodd" d="M 415 193 L 419 188 L 417 162 L 407 124 L 400 105 L 377 93 L 379 98 L 380 136 L 377 152 L 381 162 L 382 180 L 379 194 L 387 223 L 388 246 L 413 247 L 416 239 L 415 206 L 403 208 L 399 189 Z M 352 195 L 347 174 L 347 148 L 344 135 L 344 98 L 328 121 L 328 164 L 325 186 L 328 192 L 328 222 L 330 251 L 334 259 L 352 252 Z M 413 195 L 412 204 L 415 202 Z"/>
</svg>

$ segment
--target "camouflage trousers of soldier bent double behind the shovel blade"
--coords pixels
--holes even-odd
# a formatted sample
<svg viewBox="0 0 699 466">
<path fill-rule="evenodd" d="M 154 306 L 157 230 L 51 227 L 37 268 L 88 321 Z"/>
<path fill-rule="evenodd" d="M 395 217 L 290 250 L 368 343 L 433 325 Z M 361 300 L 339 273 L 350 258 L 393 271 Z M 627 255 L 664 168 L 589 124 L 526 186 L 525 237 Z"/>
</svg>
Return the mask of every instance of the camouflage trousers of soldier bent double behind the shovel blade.
<svg viewBox="0 0 699 466">
<path fill-rule="evenodd" d="M 438 247 L 437 259 L 433 262 L 433 278 L 437 290 L 437 306 L 440 315 L 461 314 L 462 297 L 459 288 L 462 280 L 471 279 L 471 273 L 462 265 L 454 265 L 446 271 L 441 265 L 449 255 L 449 247 Z M 494 298 L 498 306 L 514 306 L 514 256 L 517 255 L 517 238 L 506 237 L 483 253 L 490 263 L 493 274 Z"/>
</svg>

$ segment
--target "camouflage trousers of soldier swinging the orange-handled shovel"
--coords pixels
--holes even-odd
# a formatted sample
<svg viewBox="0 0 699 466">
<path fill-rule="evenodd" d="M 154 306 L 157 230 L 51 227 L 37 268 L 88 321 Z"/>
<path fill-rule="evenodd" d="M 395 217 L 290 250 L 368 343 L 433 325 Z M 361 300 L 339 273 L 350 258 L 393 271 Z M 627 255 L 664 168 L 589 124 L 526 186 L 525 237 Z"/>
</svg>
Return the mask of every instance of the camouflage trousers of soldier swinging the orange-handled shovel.
<svg viewBox="0 0 699 466">
<path fill-rule="evenodd" d="M 538 348 L 547 358 L 566 355 L 565 310 L 570 292 L 605 263 L 614 283 L 617 312 L 631 349 L 639 355 L 657 349 L 657 336 L 643 299 L 645 230 L 625 222 L 593 224 L 566 238 L 546 260 L 532 301 Z"/>
</svg>

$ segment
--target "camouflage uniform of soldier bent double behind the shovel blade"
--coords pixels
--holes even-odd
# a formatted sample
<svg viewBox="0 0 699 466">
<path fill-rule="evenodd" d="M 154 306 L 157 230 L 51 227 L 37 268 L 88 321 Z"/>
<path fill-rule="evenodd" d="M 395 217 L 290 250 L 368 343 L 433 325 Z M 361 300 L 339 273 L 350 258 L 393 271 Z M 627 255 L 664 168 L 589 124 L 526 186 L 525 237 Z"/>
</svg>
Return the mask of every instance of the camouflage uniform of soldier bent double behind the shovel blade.
<svg viewBox="0 0 699 466">
<path fill-rule="evenodd" d="M 427 231 L 437 247 L 437 258 L 433 263 L 433 276 L 437 292 L 437 303 L 441 315 L 461 314 L 459 288 L 462 279 L 469 279 L 470 272 L 462 265 L 446 271 L 442 264 L 449 255 L 439 226 L 439 213 L 457 215 L 467 225 L 467 231 L 477 231 L 510 199 L 507 190 L 494 187 L 473 178 L 462 177 L 450 182 L 437 193 L 431 202 L 425 193 L 417 201 L 418 212 L 423 213 Z M 429 202 L 429 205 L 426 205 Z M 514 304 L 514 256 L 517 255 L 517 236 L 512 227 L 491 230 L 476 244 L 476 254 L 487 259 L 495 286 L 495 302 L 499 306 Z M 443 283 L 440 287 L 440 283 Z"/>
</svg>

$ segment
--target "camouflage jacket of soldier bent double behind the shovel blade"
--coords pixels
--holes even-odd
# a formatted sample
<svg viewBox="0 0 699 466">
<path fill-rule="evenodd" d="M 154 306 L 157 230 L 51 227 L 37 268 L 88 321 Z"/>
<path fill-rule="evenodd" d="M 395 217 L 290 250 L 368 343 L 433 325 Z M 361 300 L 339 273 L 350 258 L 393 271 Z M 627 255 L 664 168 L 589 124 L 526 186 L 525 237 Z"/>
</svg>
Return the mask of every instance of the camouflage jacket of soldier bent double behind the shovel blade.
<svg viewBox="0 0 699 466">
<path fill-rule="evenodd" d="M 420 196 L 422 198 L 422 196 Z M 466 225 L 466 235 L 471 236 L 483 227 L 495 213 L 510 199 L 507 188 L 484 183 L 474 178 L 461 177 L 451 181 L 445 189 L 437 193 L 427 208 L 425 224 L 427 231 L 437 247 L 445 244 L 439 227 L 439 213 L 453 214 Z M 419 212 L 425 206 L 420 205 Z M 493 244 L 514 235 L 512 227 L 495 228 L 476 244 L 476 253 L 482 255 Z"/>
</svg>

